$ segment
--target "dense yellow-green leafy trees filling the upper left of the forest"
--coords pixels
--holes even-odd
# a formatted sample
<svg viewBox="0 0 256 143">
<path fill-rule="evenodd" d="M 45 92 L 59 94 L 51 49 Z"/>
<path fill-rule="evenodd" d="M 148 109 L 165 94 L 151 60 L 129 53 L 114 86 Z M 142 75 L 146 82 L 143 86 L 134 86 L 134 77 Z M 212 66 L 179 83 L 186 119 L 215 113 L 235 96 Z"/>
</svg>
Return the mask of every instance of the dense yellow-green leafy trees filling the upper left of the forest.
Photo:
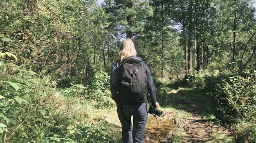
<svg viewBox="0 0 256 143">
<path fill-rule="evenodd" d="M 103 8 L 93 0 L 4 0 L 0 9 L 0 35 L 11 37 L 15 47 L 4 43 L 4 50 L 17 53 L 18 65 L 50 75 L 61 82 L 58 87 L 90 80 L 103 59 L 107 26 Z M 97 68 L 103 65 L 97 62 Z"/>
</svg>

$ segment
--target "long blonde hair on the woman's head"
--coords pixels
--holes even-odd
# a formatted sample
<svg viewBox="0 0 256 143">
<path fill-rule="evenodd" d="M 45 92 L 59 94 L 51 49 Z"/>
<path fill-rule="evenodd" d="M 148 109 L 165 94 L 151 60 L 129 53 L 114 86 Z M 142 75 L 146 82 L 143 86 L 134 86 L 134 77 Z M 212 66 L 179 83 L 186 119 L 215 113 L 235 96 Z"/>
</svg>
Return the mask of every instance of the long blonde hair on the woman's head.
<svg viewBox="0 0 256 143">
<path fill-rule="evenodd" d="M 119 52 L 118 59 L 123 61 L 124 58 L 130 58 L 130 56 L 136 56 L 137 51 L 135 50 L 134 43 L 130 38 L 126 38 L 124 43 L 121 45 L 121 51 Z"/>
</svg>

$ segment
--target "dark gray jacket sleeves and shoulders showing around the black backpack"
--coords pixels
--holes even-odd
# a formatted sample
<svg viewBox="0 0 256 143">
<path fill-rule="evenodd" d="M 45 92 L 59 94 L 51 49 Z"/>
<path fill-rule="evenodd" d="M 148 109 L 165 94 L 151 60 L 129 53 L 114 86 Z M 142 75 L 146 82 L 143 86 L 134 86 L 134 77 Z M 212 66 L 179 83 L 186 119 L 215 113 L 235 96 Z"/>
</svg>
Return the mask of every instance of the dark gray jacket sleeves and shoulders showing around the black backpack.
<svg viewBox="0 0 256 143">
<path fill-rule="evenodd" d="M 140 57 L 132 55 L 130 58 L 136 58 L 144 65 L 144 68 L 145 68 L 145 71 L 147 74 L 147 78 L 148 78 L 148 93 L 150 94 L 150 101 L 152 104 L 155 104 L 157 102 L 156 101 L 156 93 L 155 93 L 155 85 L 153 82 L 153 78 L 151 76 L 150 69 L 148 68 L 148 65 L 144 61 L 142 61 Z M 120 64 L 121 64 L 120 61 L 113 62 L 112 67 L 111 67 L 111 74 L 110 74 L 110 91 L 112 94 L 112 99 L 115 100 L 115 102 L 118 102 L 117 70 L 118 70 L 118 67 Z"/>
</svg>

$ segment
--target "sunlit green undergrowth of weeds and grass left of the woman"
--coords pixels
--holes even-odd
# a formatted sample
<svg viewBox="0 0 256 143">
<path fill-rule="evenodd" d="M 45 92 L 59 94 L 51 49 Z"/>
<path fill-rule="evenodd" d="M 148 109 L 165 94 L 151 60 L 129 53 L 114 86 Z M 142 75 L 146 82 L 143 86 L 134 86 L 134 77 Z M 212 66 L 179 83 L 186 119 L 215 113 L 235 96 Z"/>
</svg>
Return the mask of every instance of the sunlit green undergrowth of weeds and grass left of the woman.
<svg viewBox="0 0 256 143">
<path fill-rule="evenodd" d="M 103 121 L 98 126 L 85 124 L 93 110 L 92 103 L 85 98 L 89 97 L 87 87 L 73 85 L 56 93 L 47 89 L 49 85 L 43 84 L 52 83 L 49 79 L 37 79 L 34 72 L 18 66 L 8 64 L 8 68 L 19 73 L 20 77 L 13 80 L 1 78 L 1 142 L 111 142 L 105 132 L 108 123 Z M 106 82 L 108 80 L 104 80 Z M 109 101 L 104 99 L 104 102 Z"/>
</svg>

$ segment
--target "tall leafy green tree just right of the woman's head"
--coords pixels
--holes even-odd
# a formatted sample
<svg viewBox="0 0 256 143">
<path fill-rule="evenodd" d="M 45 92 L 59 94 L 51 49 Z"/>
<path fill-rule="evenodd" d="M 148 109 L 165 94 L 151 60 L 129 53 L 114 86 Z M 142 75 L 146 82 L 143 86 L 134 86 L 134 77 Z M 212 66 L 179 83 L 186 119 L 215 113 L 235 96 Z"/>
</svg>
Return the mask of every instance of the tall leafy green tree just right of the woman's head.
<svg viewBox="0 0 256 143">
<path fill-rule="evenodd" d="M 176 62 L 171 61 L 176 60 L 173 57 L 178 53 L 175 52 L 178 50 L 174 49 L 177 46 L 178 32 L 173 27 L 170 16 L 172 2 L 150 0 L 149 3 L 154 9 L 154 15 L 145 21 L 144 31 L 136 35 L 138 52 L 149 65 L 153 65 L 153 73 L 157 76 L 170 76 L 173 74 L 172 68 L 176 66 Z"/>
</svg>

